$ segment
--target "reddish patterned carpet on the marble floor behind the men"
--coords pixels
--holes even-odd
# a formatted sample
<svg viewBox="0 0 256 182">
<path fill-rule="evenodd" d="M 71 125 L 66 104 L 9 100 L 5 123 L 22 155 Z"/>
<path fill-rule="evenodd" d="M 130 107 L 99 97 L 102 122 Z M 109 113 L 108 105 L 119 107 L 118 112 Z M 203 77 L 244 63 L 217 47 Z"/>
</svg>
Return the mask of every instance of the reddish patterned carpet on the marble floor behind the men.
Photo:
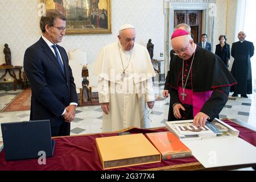
<svg viewBox="0 0 256 182">
<path fill-rule="evenodd" d="M 92 93 L 93 99 L 92 102 L 82 102 L 81 106 L 95 106 L 100 105 L 98 102 L 98 93 Z M 162 101 L 165 98 L 159 97 L 158 94 L 155 94 L 155 101 Z M 87 101 L 86 92 L 84 92 L 84 101 Z M 30 110 L 30 103 L 31 103 L 31 89 L 27 88 L 22 90 L 5 108 L 1 110 L 1 113 L 4 112 L 11 112 L 11 111 L 24 111 Z"/>
</svg>

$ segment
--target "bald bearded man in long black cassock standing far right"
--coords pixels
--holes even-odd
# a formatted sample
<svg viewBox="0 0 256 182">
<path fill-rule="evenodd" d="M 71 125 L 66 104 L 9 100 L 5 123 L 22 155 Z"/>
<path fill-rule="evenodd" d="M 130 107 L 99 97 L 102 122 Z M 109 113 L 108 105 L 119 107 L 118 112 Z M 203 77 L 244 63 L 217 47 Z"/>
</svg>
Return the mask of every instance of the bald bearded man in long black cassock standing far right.
<svg viewBox="0 0 256 182">
<path fill-rule="evenodd" d="M 230 92 L 234 92 L 233 97 L 241 94 L 242 97 L 247 98 L 246 94 L 251 94 L 253 90 L 250 58 L 254 55 L 254 46 L 252 42 L 245 40 L 245 32 L 239 32 L 237 37 L 239 41 L 233 43 L 231 49 L 231 55 L 234 57 L 231 73 L 238 84 L 232 86 Z"/>
</svg>

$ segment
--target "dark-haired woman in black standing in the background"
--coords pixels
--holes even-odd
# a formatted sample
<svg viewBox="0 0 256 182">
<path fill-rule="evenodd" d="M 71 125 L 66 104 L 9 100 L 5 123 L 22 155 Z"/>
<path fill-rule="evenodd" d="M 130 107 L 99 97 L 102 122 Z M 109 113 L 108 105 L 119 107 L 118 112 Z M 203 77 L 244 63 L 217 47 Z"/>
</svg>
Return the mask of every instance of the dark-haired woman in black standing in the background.
<svg viewBox="0 0 256 182">
<path fill-rule="evenodd" d="M 226 43 L 226 36 L 220 35 L 218 37 L 218 40 L 220 40 L 220 44 L 216 45 L 215 54 L 221 58 L 221 60 L 225 63 L 226 67 L 229 67 L 230 46 Z"/>
</svg>

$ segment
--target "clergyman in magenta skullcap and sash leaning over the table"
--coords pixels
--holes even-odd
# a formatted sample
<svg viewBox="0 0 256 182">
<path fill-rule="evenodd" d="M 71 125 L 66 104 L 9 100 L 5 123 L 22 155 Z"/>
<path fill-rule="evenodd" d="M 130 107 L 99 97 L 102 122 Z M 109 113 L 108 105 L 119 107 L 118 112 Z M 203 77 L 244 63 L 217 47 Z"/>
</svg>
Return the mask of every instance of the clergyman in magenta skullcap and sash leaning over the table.
<svg viewBox="0 0 256 182">
<path fill-rule="evenodd" d="M 197 47 L 184 30 L 172 34 L 172 48 L 176 55 L 167 81 L 171 97 L 168 121 L 193 119 L 196 126 L 204 126 L 207 119 L 218 118 L 236 80 L 220 57 Z"/>
</svg>

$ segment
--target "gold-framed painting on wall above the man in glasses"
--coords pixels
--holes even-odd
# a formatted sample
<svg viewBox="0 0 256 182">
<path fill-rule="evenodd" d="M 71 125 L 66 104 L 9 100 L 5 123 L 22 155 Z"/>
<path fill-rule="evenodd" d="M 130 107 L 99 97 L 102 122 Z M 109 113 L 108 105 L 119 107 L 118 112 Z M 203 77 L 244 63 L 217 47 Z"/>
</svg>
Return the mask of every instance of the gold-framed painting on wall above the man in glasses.
<svg viewBox="0 0 256 182">
<path fill-rule="evenodd" d="M 67 17 L 65 34 L 110 34 L 111 0 L 40 0 Z"/>
</svg>

